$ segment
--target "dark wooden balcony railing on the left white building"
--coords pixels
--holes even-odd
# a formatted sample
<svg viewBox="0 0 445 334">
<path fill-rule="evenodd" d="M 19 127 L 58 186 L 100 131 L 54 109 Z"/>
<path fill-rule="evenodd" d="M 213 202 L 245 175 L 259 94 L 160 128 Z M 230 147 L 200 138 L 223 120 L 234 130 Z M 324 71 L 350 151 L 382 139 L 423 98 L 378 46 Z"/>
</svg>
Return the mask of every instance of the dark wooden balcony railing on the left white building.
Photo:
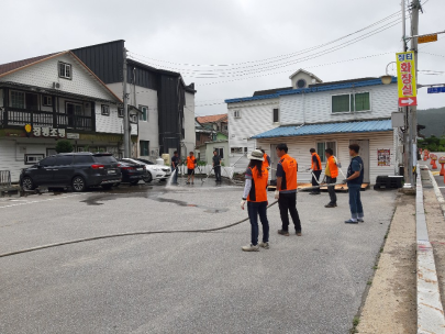
<svg viewBox="0 0 445 334">
<path fill-rule="evenodd" d="M 23 127 L 25 124 L 31 124 L 33 127 L 94 131 L 91 116 L 14 108 L 4 108 L 3 111 L 0 111 L 0 127 Z"/>
</svg>

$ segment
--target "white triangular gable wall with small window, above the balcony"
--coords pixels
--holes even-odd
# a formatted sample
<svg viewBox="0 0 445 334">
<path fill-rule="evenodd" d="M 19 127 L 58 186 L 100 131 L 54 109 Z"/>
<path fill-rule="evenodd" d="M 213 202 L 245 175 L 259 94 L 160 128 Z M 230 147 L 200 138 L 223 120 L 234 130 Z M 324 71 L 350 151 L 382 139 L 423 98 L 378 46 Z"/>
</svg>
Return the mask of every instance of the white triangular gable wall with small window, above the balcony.
<svg viewBox="0 0 445 334">
<path fill-rule="evenodd" d="M 73 80 L 58 77 L 58 62 L 71 64 Z M 70 55 L 55 57 L 0 78 L 0 81 L 13 81 L 42 88 L 53 88 L 60 84 L 60 90 L 71 93 L 111 100 L 112 94 Z"/>
</svg>

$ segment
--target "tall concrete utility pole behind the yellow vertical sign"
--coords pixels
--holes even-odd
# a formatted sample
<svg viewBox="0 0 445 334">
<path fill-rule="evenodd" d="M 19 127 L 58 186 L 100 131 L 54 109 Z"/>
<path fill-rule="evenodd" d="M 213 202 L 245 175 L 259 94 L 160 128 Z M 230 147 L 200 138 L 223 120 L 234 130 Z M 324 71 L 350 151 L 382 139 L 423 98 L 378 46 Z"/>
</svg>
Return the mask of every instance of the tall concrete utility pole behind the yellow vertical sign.
<svg viewBox="0 0 445 334">
<path fill-rule="evenodd" d="M 413 0 L 411 3 L 411 36 L 416 36 L 419 35 L 419 11 L 421 9 L 421 4 L 419 0 Z M 411 49 L 414 52 L 414 64 L 415 64 L 415 80 L 419 82 L 419 76 L 418 76 L 418 69 L 419 69 L 419 59 L 418 59 L 418 38 L 412 37 L 411 38 Z M 418 85 L 419 87 L 419 85 Z M 416 89 L 418 89 L 416 87 Z M 411 107 L 411 114 L 410 114 L 410 121 L 411 121 L 411 126 L 410 126 L 410 151 L 411 151 L 411 164 L 414 164 L 418 158 L 418 107 L 413 105 Z M 412 166 L 412 165 L 411 165 Z M 414 186 L 415 183 L 415 178 L 413 174 L 413 168 L 410 170 L 411 179 L 410 182 L 411 185 Z"/>
</svg>

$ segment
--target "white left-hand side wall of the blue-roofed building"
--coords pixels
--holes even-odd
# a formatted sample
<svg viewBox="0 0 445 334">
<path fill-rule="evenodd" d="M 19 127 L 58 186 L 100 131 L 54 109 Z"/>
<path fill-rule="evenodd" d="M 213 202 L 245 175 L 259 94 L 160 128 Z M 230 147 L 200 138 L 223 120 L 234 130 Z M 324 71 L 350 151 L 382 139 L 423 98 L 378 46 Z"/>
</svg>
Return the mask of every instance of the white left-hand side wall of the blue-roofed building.
<svg viewBox="0 0 445 334">
<path fill-rule="evenodd" d="M 249 137 L 269 131 L 279 126 L 274 123 L 272 112 L 275 108 L 279 108 L 278 99 L 249 101 L 241 103 L 230 103 L 227 105 L 229 116 L 229 149 L 231 147 L 248 147 L 248 152 L 255 148 L 255 141 L 248 141 Z M 234 111 L 241 111 L 241 118 L 234 118 Z M 230 153 L 230 165 L 235 164 L 241 157 L 241 154 Z M 236 171 L 245 170 L 246 158 L 241 158 L 236 163 Z"/>
</svg>

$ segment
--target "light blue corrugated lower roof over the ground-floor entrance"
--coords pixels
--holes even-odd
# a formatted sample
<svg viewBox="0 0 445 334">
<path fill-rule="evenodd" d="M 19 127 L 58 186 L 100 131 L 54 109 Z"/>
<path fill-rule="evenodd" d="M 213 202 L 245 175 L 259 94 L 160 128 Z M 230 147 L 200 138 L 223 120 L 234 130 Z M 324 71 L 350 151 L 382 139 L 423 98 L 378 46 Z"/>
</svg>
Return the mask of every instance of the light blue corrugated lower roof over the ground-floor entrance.
<svg viewBox="0 0 445 334">
<path fill-rule="evenodd" d="M 360 132 L 383 132 L 392 131 L 391 120 L 345 122 L 345 123 L 324 123 L 279 126 L 264 133 L 253 136 L 253 138 L 274 138 L 291 137 L 301 135 L 318 135 L 331 133 L 360 133 Z"/>
</svg>

